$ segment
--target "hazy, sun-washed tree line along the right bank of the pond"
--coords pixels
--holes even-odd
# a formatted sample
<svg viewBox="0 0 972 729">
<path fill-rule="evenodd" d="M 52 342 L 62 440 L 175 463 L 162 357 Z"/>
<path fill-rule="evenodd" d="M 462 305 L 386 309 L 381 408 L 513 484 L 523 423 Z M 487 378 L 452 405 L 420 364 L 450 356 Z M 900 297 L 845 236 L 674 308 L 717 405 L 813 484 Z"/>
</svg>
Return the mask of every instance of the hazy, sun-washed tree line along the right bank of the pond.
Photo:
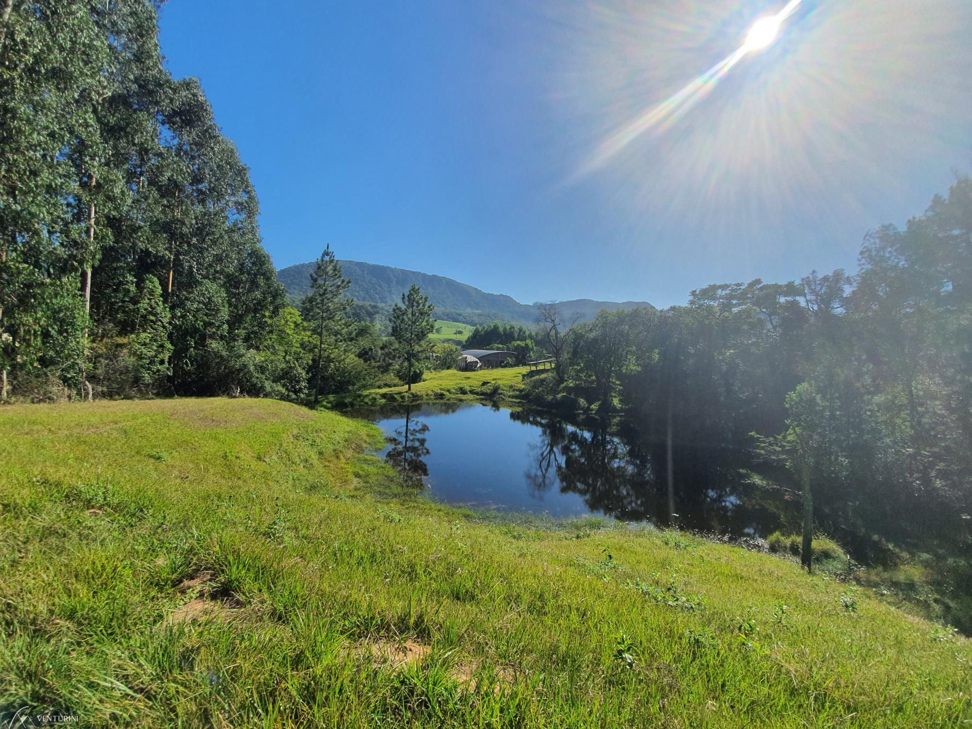
<svg viewBox="0 0 972 729">
<path fill-rule="evenodd" d="M 778 463 L 805 532 L 824 524 L 857 554 L 881 557 L 874 535 L 972 551 L 968 178 L 903 229 L 870 233 L 854 274 L 717 284 L 579 325 L 551 305 L 540 328 L 561 356 L 528 397 L 624 409 L 670 453 L 710 442 Z"/>
</svg>

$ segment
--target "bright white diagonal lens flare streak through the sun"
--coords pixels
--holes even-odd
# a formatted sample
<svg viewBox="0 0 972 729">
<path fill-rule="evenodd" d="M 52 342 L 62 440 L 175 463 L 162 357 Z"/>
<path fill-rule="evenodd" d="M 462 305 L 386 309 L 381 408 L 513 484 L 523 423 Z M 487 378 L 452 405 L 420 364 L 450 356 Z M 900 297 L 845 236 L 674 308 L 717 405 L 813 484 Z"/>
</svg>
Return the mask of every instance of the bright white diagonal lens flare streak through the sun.
<svg viewBox="0 0 972 729">
<path fill-rule="evenodd" d="M 770 16 L 770 18 L 777 24 L 782 23 L 783 20 L 793 14 L 801 2 L 802 0 L 790 0 L 776 16 Z M 680 91 L 672 94 L 660 104 L 645 109 L 635 121 L 625 124 L 602 142 L 595 154 L 581 167 L 580 174 L 591 172 L 602 166 L 610 157 L 619 153 L 649 129 L 662 132 L 670 128 L 692 107 L 712 93 L 712 89 L 718 84 L 719 80 L 729 73 L 729 70 L 739 63 L 743 56 L 749 52 L 758 51 L 759 48 L 750 46 L 747 41 Z"/>
</svg>

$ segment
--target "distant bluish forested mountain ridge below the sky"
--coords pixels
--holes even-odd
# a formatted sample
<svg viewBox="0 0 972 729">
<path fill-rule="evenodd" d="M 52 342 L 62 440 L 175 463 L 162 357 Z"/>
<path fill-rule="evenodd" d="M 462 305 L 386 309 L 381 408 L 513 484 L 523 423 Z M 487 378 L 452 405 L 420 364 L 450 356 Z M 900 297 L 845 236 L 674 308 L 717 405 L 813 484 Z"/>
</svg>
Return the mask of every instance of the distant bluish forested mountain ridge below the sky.
<svg viewBox="0 0 972 729">
<path fill-rule="evenodd" d="M 488 322 L 519 322 L 532 324 L 537 319 L 537 307 L 524 304 L 512 296 L 487 294 L 469 284 L 445 276 L 410 271 L 359 260 L 340 261 L 344 275 L 351 279 L 348 295 L 355 299 L 354 314 L 370 321 L 380 319 L 399 301 L 401 293 L 418 284 L 422 293 L 435 305 L 435 316 L 468 324 Z M 313 262 L 297 263 L 277 271 L 277 280 L 287 287 L 287 293 L 297 302 L 307 294 Z M 634 309 L 651 307 L 647 301 L 596 301 L 575 298 L 561 302 L 565 313 L 577 312 L 583 319 L 593 319 L 601 309 Z M 651 307 L 654 308 L 654 307 Z"/>
</svg>

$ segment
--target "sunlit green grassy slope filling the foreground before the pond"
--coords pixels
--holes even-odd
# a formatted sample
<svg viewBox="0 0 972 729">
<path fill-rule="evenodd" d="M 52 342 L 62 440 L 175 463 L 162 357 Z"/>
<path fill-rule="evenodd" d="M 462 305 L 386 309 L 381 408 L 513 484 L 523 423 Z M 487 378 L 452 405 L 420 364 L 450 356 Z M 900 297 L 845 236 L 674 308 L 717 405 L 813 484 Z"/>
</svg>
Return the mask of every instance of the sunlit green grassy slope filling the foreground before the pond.
<svg viewBox="0 0 972 729">
<path fill-rule="evenodd" d="M 361 454 L 377 438 L 270 400 L 0 408 L 0 711 L 159 727 L 972 720 L 972 645 L 866 589 L 675 532 L 435 505 Z"/>
</svg>

